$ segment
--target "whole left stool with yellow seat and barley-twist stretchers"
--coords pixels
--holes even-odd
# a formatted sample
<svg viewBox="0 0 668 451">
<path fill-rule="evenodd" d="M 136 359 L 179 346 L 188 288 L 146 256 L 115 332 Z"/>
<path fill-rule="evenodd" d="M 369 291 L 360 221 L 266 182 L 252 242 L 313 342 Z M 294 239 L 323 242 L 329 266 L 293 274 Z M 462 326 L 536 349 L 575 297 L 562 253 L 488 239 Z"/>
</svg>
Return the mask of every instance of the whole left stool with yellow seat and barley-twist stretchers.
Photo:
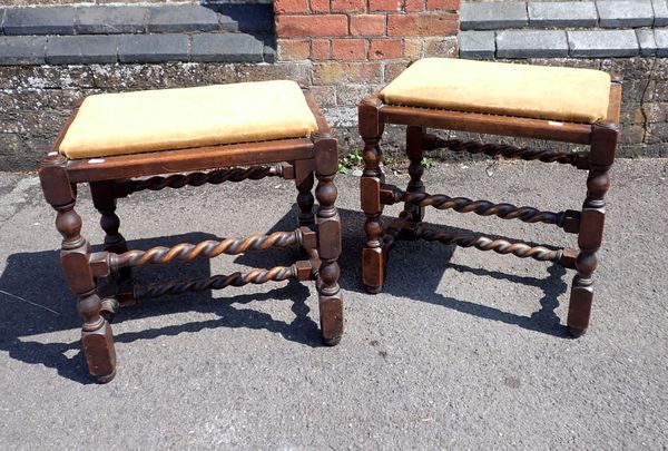
<svg viewBox="0 0 668 451">
<path fill-rule="evenodd" d="M 88 370 L 99 382 L 116 372 L 109 323 L 119 306 L 143 297 L 259 284 L 315 280 L 323 341 L 343 333 L 338 288 L 341 222 L 334 202 L 337 144 L 308 92 L 293 81 L 263 81 L 202 88 L 87 97 L 73 111 L 39 175 L 47 202 L 58 212 L 61 263 L 84 317 L 81 342 Z M 200 170 L 208 170 L 203 173 Z M 189 173 L 187 175 L 169 173 Z M 150 178 L 140 178 L 151 176 Z M 314 215 L 314 176 L 318 180 Z M 206 183 L 294 179 L 298 227 L 271 235 L 183 243 L 128 251 L 115 214 L 116 199 L 143 189 Z M 106 233 L 105 252 L 91 253 L 75 212 L 77 184 L 88 183 Z M 287 207 L 287 206 L 286 206 Z M 138 218 L 137 218 L 138 219 Z M 271 247 L 302 246 L 305 258 L 291 266 L 199 281 L 134 286 L 131 268 L 212 258 Z"/>
</svg>

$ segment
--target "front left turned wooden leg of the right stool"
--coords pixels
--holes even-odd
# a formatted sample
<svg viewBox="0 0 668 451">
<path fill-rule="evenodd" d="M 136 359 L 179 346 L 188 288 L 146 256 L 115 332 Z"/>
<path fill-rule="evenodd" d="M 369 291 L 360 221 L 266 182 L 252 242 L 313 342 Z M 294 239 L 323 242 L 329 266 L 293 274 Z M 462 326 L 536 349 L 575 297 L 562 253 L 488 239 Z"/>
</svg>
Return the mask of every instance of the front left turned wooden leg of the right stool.
<svg viewBox="0 0 668 451">
<path fill-rule="evenodd" d="M 382 153 L 380 147 L 383 124 L 380 121 L 381 100 L 371 97 L 360 104 L 360 134 L 364 140 L 364 171 L 360 180 L 362 210 L 366 215 L 364 231 L 366 243 L 362 249 L 362 283 L 370 293 L 380 293 L 385 282 L 386 257 L 383 252 L 384 228 L 381 215 L 381 185 L 384 176 L 380 168 Z"/>
</svg>

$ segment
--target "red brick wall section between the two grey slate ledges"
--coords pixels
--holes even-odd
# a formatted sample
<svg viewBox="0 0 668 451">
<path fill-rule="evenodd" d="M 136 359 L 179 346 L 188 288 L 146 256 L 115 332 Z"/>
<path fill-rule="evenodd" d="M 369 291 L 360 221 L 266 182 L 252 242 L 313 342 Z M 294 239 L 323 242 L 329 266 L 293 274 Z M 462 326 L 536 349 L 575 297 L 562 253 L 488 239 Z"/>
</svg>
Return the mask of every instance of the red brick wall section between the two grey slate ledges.
<svg viewBox="0 0 668 451">
<path fill-rule="evenodd" d="M 439 52 L 459 30 L 459 0 L 276 0 L 283 60 L 379 61 Z"/>
</svg>

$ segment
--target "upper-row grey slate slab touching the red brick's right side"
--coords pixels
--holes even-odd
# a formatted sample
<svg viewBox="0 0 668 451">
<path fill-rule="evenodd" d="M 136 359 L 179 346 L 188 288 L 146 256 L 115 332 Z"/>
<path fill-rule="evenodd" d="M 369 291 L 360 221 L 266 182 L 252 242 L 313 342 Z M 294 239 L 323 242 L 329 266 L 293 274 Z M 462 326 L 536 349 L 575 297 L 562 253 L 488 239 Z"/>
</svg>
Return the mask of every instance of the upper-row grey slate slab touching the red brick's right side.
<svg viewBox="0 0 668 451">
<path fill-rule="evenodd" d="M 462 3 L 460 26 L 462 30 L 495 30 L 519 28 L 529 22 L 524 2 Z"/>
</svg>

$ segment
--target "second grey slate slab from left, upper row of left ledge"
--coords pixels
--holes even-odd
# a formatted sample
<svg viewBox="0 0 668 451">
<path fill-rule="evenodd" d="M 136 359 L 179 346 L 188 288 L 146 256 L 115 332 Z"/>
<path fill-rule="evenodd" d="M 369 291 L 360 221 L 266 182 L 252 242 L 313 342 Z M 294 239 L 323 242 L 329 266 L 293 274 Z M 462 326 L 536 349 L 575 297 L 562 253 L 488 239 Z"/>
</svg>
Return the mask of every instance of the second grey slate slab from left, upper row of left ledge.
<svg viewBox="0 0 668 451">
<path fill-rule="evenodd" d="M 147 8 L 80 7 L 77 8 L 75 30 L 79 35 L 139 33 L 146 30 Z"/>
</svg>

